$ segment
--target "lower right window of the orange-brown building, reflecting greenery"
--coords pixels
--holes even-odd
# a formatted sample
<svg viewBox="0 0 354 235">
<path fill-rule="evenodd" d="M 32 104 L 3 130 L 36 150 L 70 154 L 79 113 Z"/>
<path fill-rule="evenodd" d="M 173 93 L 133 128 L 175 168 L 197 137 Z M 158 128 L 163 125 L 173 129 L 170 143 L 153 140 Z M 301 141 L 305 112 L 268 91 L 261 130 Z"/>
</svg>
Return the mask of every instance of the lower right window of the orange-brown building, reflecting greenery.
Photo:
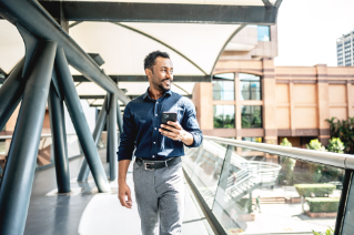
<svg viewBox="0 0 354 235">
<path fill-rule="evenodd" d="M 262 106 L 261 105 L 242 105 L 241 120 L 243 129 L 261 129 L 262 122 Z"/>
</svg>

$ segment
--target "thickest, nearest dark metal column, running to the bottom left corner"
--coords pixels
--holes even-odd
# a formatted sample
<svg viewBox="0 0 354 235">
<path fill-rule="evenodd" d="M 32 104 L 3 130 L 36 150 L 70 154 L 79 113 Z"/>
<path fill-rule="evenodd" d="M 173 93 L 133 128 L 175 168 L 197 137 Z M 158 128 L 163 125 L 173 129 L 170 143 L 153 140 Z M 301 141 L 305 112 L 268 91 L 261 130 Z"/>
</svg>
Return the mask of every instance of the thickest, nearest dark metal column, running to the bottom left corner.
<svg viewBox="0 0 354 235">
<path fill-rule="evenodd" d="M 0 234 L 23 234 L 57 42 L 41 42 L 28 70 L 0 188 Z"/>
</svg>

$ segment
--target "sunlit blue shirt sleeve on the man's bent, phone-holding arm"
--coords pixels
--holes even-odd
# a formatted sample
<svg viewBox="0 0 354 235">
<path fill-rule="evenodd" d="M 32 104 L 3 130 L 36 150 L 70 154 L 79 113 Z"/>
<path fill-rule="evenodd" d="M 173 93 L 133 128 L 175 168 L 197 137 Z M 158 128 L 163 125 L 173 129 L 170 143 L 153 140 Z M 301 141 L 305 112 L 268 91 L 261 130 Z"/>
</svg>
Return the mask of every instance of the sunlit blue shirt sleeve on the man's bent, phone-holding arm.
<svg viewBox="0 0 354 235">
<path fill-rule="evenodd" d="M 203 133 L 199 127 L 198 121 L 196 121 L 196 112 L 194 104 L 192 103 L 191 100 L 186 99 L 185 101 L 185 113 L 182 120 L 182 127 L 190 132 L 193 135 L 193 144 L 191 145 L 185 145 L 188 147 L 199 147 L 202 142 L 203 142 Z"/>
</svg>

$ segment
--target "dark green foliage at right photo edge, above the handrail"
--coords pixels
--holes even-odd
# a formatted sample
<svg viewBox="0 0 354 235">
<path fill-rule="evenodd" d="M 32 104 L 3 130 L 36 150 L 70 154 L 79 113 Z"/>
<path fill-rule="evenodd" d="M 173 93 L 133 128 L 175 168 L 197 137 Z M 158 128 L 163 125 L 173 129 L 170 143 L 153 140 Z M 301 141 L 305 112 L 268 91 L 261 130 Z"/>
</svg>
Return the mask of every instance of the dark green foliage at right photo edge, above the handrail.
<svg viewBox="0 0 354 235">
<path fill-rule="evenodd" d="M 326 119 L 332 137 L 338 137 L 344 144 L 344 153 L 354 153 L 354 116 L 348 120 Z"/>
</svg>

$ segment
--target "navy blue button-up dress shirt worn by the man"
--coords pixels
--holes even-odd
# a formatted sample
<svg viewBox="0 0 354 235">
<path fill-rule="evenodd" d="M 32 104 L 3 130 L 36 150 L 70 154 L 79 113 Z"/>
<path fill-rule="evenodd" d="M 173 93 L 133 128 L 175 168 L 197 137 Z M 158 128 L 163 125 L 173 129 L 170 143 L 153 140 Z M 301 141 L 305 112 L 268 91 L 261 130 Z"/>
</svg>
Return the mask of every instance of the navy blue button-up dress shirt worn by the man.
<svg viewBox="0 0 354 235">
<path fill-rule="evenodd" d="M 192 101 L 172 91 L 165 92 L 155 101 L 146 91 L 125 106 L 123 133 L 118 152 L 119 161 L 132 160 L 135 146 L 135 156 L 152 161 L 184 155 L 183 142 L 173 141 L 159 132 L 162 112 L 178 113 L 178 122 L 194 139 L 189 147 L 201 145 L 203 134 L 196 122 Z"/>
</svg>

